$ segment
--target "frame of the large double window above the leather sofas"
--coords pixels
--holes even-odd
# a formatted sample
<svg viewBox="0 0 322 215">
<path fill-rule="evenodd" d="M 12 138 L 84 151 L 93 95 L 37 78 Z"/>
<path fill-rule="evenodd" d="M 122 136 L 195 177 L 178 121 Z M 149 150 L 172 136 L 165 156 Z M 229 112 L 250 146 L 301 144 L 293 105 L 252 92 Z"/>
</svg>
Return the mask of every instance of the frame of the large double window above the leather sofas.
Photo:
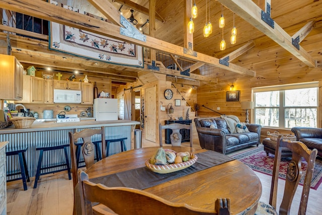
<svg viewBox="0 0 322 215">
<path fill-rule="evenodd" d="M 316 106 L 285 106 L 285 91 L 286 90 L 294 90 L 294 89 L 307 89 L 307 88 L 316 88 Z M 260 92 L 272 92 L 278 91 L 279 92 L 279 106 L 271 106 L 271 107 L 256 107 L 256 93 Z M 278 109 L 279 111 L 279 118 L 278 118 L 278 126 L 268 126 L 262 125 L 265 127 L 272 127 L 272 128 L 280 128 L 280 129 L 290 129 L 285 125 L 285 109 L 296 109 L 296 108 L 316 108 L 316 125 L 318 127 L 318 119 L 319 119 L 319 88 L 318 82 L 307 82 L 307 83 L 298 83 L 298 84 L 288 84 L 288 85 L 275 85 L 275 86 L 267 86 L 267 87 L 258 87 L 252 89 L 252 97 L 254 101 L 254 110 L 252 112 L 252 118 L 254 122 L 256 122 L 256 109 L 260 108 L 271 108 L 271 109 Z"/>
</svg>

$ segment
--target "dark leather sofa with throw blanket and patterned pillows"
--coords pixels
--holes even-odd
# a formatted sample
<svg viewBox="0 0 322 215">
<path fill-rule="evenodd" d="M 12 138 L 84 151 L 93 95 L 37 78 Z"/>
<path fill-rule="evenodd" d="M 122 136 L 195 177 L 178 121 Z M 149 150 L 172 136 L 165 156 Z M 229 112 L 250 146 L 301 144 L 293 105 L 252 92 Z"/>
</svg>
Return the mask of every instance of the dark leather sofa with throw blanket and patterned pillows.
<svg viewBox="0 0 322 215">
<path fill-rule="evenodd" d="M 230 133 L 227 122 L 223 118 L 195 118 L 194 121 L 200 146 L 203 149 L 226 154 L 260 144 L 262 126 L 259 124 L 246 124 L 249 132 Z"/>
</svg>

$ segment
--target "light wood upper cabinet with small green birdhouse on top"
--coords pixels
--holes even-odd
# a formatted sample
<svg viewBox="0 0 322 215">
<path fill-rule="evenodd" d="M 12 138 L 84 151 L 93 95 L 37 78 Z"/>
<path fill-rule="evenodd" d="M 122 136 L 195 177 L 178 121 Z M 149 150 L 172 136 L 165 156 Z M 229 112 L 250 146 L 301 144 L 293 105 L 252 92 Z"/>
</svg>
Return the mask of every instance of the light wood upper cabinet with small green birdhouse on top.
<svg viewBox="0 0 322 215">
<path fill-rule="evenodd" d="M 44 103 L 45 80 L 33 76 L 23 76 L 24 92 L 22 103 Z"/>
</svg>

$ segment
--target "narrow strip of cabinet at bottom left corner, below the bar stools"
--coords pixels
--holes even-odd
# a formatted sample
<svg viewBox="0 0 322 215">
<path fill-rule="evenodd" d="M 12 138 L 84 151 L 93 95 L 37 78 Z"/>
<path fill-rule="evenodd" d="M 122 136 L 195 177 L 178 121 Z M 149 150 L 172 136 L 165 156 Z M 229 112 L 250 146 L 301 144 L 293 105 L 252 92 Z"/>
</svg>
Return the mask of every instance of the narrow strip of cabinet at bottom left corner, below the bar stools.
<svg viewBox="0 0 322 215">
<path fill-rule="evenodd" d="M 0 142 L 0 214 L 7 214 L 7 184 L 6 184 L 6 145 L 8 141 Z"/>
</svg>

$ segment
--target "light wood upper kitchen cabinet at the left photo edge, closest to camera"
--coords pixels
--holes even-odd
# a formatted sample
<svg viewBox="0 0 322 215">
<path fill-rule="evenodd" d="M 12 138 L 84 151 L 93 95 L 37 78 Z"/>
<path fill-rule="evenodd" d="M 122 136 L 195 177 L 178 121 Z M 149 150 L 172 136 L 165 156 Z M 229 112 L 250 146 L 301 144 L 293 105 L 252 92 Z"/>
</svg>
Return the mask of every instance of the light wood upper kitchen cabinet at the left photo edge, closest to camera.
<svg viewBox="0 0 322 215">
<path fill-rule="evenodd" d="M 24 67 L 15 56 L 0 54 L 0 99 L 22 100 Z"/>
</svg>

